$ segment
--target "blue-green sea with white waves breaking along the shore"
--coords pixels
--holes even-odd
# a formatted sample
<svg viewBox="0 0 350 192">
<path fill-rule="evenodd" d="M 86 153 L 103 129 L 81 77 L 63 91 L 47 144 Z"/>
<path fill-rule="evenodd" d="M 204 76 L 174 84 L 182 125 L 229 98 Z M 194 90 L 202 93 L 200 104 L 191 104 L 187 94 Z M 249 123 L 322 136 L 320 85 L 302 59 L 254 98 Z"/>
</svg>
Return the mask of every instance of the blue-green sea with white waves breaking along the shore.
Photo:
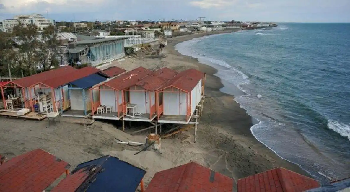
<svg viewBox="0 0 350 192">
<path fill-rule="evenodd" d="M 321 183 L 350 177 L 350 23 L 278 23 L 176 45 L 215 67 L 253 135 Z"/>
</svg>

